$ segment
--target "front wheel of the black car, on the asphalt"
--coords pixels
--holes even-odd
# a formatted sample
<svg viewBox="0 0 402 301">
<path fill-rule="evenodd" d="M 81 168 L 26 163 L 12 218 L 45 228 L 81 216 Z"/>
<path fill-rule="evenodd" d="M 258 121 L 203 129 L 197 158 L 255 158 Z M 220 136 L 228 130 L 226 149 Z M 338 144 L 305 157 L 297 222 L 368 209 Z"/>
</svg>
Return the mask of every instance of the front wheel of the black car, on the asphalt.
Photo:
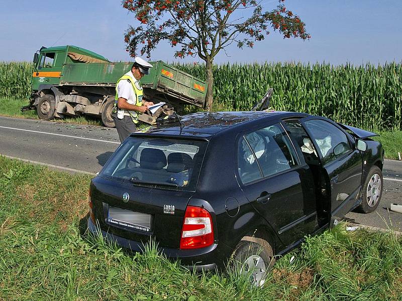
<svg viewBox="0 0 402 301">
<path fill-rule="evenodd" d="M 377 209 L 382 196 L 382 172 L 377 166 L 373 166 L 363 186 L 361 204 L 355 209 L 360 213 L 371 213 Z"/>
</svg>

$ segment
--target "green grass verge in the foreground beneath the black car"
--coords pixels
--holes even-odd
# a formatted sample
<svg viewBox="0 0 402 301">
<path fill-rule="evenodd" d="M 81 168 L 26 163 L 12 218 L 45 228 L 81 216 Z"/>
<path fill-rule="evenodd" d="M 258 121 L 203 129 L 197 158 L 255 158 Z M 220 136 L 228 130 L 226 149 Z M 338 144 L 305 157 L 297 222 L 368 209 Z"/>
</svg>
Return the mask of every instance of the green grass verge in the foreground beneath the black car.
<svg viewBox="0 0 402 301">
<path fill-rule="evenodd" d="M 154 246 L 129 253 L 80 235 L 87 175 L 0 157 L 0 299 L 400 300 L 402 238 L 347 232 L 307 237 L 262 288 L 230 273 L 196 275 Z M 292 256 L 295 259 L 290 262 Z"/>
</svg>

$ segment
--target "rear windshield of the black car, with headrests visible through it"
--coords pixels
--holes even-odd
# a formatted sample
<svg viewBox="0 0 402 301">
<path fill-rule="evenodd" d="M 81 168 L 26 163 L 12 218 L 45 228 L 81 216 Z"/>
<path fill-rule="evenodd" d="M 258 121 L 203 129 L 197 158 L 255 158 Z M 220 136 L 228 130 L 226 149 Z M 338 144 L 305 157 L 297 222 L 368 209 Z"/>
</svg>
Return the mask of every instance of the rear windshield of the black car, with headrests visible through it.
<svg viewBox="0 0 402 301">
<path fill-rule="evenodd" d="M 207 141 L 129 137 L 99 173 L 131 185 L 195 191 Z"/>
</svg>

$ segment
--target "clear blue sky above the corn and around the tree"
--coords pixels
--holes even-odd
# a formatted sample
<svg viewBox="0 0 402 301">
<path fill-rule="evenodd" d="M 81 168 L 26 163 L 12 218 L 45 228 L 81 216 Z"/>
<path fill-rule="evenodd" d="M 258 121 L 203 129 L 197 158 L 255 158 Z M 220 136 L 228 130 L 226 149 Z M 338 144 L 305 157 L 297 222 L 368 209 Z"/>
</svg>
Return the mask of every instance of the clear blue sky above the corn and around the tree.
<svg viewBox="0 0 402 301">
<path fill-rule="evenodd" d="M 262 3 L 270 9 L 277 1 Z M 284 40 L 271 31 L 253 49 L 233 46 L 227 51 L 229 57 L 222 52 L 215 63 L 325 61 L 360 65 L 402 61 L 400 0 L 286 0 L 284 4 L 306 23 L 310 41 Z M 121 7 L 120 0 L 1 0 L 0 7 L 0 61 L 30 61 L 42 45 L 67 44 L 112 61 L 132 60 L 123 39 L 129 25 L 137 25 L 137 21 Z M 173 49 L 159 44 L 151 59 L 175 61 Z"/>
</svg>

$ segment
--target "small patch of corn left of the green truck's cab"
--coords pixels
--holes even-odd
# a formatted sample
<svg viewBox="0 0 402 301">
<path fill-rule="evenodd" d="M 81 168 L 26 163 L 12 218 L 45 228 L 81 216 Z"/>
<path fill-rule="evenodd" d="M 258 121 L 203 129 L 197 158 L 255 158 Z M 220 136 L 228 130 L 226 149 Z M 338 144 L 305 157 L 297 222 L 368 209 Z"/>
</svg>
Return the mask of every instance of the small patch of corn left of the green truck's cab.
<svg viewBox="0 0 402 301">
<path fill-rule="evenodd" d="M 0 97 L 28 98 L 31 95 L 32 72 L 32 63 L 0 62 Z"/>
</svg>

